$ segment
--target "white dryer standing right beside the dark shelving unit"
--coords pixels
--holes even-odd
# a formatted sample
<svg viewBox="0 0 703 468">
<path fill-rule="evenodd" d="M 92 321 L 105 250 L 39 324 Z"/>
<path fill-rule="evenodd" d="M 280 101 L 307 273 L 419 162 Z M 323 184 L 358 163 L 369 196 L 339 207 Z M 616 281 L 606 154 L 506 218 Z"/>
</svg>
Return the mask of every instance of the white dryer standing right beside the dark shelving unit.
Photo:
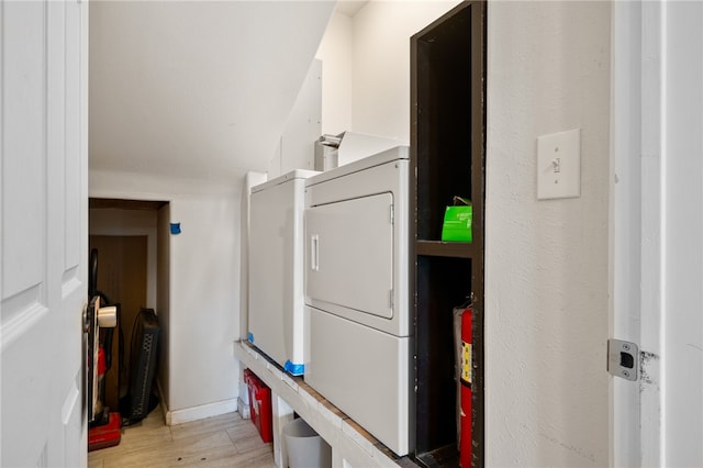
<svg viewBox="0 0 703 468">
<path fill-rule="evenodd" d="M 398 455 L 413 447 L 408 147 L 305 181 L 305 381 Z"/>
</svg>

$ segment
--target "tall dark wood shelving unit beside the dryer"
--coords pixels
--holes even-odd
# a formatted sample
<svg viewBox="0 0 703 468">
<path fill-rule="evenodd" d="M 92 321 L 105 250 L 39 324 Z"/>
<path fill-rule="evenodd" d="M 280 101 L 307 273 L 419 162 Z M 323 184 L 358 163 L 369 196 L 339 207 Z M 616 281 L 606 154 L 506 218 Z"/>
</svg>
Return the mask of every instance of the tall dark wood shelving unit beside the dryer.
<svg viewBox="0 0 703 468">
<path fill-rule="evenodd" d="M 458 466 L 453 310 L 472 299 L 472 466 L 483 466 L 486 3 L 465 1 L 411 37 L 411 258 L 415 454 Z M 442 242 L 445 207 L 471 199 L 471 243 Z M 466 467 L 465 467 L 466 468 Z"/>
</svg>

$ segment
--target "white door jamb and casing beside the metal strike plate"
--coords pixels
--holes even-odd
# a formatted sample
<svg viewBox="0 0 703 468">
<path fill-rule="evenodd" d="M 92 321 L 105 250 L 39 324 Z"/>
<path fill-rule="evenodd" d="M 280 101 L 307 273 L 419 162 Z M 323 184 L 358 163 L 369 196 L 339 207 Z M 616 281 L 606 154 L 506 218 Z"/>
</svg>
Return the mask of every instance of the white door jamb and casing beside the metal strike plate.
<svg viewBox="0 0 703 468">
<path fill-rule="evenodd" d="M 703 466 L 703 4 L 613 4 L 612 466 Z"/>
</svg>

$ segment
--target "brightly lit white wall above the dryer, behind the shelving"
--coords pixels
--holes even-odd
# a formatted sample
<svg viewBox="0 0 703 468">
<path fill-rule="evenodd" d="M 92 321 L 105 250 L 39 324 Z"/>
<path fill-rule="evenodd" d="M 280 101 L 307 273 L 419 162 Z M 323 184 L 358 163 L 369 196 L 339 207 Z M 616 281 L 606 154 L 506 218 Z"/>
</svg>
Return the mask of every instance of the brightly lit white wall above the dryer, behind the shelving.
<svg viewBox="0 0 703 468">
<path fill-rule="evenodd" d="M 352 19 L 334 13 L 316 55 L 323 133 L 409 142 L 410 36 L 458 3 L 372 0 Z"/>
</svg>

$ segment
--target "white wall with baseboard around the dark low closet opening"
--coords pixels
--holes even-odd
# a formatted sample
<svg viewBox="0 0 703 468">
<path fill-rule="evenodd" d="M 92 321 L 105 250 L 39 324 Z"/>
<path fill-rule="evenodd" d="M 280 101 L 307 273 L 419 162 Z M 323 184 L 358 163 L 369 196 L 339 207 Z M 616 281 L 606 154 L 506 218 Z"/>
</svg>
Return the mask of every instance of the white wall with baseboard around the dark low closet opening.
<svg viewBox="0 0 703 468">
<path fill-rule="evenodd" d="M 91 197 L 167 200 L 168 222 L 181 223 L 181 234 L 168 237 L 167 369 L 159 372 L 167 423 L 236 410 L 241 190 L 241 181 L 90 172 Z"/>
</svg>

